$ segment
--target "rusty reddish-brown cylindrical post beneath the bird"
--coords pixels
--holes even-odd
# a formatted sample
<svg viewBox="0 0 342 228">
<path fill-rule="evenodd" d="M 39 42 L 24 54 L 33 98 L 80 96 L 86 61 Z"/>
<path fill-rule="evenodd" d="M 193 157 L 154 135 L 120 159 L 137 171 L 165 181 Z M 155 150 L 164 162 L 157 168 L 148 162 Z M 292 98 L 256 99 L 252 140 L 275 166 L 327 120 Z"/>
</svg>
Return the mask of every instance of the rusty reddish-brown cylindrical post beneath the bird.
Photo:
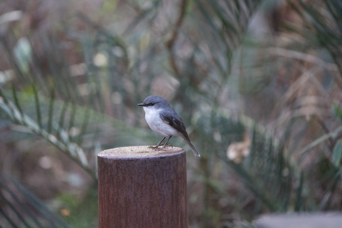
<svg viewBox="0 0 342 228">
<path fill-rule="evenodd" d="M 182 148 L 120 147 L 97 155 L 100 228 L 187 228 Z"/>
</svg>

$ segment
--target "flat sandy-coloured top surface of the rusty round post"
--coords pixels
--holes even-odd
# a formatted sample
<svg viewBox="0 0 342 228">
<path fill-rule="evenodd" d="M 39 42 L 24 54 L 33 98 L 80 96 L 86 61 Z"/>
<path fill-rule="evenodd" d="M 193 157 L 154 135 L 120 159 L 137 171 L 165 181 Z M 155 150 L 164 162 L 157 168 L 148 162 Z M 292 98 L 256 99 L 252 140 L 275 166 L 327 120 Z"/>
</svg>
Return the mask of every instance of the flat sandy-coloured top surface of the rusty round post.
<svg viewBox="0 0 342 228">
<path fill-rule="evenodd" d="M 118 147 L 108 150 L 103 150 L 97 154 L 98 157 L 120 157 L 120 158 L 144 158 L 144 157 L 160 157 L 160 156 L 172 156 L 179 153 L 183 153 L 185 150 L 180 147 L 167 147 L 163 150 L 152 150 L 148 146 L 129 146 Z"/>
</svg>

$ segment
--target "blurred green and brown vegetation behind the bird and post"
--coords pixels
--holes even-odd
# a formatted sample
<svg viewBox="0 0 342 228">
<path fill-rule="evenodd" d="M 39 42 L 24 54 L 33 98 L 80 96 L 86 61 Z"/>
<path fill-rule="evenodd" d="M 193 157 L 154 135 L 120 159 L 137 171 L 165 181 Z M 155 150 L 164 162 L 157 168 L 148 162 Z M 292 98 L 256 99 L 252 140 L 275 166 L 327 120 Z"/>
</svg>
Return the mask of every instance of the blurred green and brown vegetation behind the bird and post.
<svg viewBox="0 0 342 228">
<path fill-rule="evenodd" d="M 0 2 L 0 227 L 97 227 L 96 154 L 181 113 L 189 227 L 341 210 L 339 0 Z M 186 146 L 182 139 L 172 144 Z"/>
</svg>

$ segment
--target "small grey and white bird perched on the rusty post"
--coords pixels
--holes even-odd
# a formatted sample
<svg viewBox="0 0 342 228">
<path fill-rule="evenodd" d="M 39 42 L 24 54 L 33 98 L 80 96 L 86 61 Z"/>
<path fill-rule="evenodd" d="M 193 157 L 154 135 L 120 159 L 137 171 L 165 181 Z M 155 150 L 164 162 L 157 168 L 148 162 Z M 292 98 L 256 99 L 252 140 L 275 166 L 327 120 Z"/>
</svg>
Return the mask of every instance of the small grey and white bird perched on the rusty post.
<svg viewBox="0 0 342 228">
<path fill-rule="evenodd" d="M 168 145 L 170 138 L 172 136 L 179 136 L 185 140 L 194 154 L 200 157 L 198 151 L 189 139 L 183 120 L 179 117 L 177 112 L 170 107 L 165 98 L 150 95 L 145 98 L 144 103 L 138 104 L 138 106 L 143 106 L 145 120 L 148 126 L 157 134 L 164 136 L 157 146 L 149 146 L 149 149 L 162 150 L 166 146 L 172 147 L 172 145 Z M 162 143 L 166 137 L 169 137 L 166 140 L 166 143 Z"/>
</svg>

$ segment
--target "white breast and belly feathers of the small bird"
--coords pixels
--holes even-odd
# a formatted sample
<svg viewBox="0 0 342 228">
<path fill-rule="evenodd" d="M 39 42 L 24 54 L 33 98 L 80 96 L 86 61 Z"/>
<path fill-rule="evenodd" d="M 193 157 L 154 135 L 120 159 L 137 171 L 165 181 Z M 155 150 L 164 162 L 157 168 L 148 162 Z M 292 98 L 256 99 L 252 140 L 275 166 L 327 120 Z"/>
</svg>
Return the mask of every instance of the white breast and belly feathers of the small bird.
<svg viewBox="0 0 342 228">
<path fill-rule="evenodd" d="M 179 132 L 167 124 L 159 116 L 160 109 L 155 109 L 154 107 L 144 107 L 145 120 L 148 126 L 157 134 L 169 137 L 170 135 L 179 135 Z"/>
</svg>

